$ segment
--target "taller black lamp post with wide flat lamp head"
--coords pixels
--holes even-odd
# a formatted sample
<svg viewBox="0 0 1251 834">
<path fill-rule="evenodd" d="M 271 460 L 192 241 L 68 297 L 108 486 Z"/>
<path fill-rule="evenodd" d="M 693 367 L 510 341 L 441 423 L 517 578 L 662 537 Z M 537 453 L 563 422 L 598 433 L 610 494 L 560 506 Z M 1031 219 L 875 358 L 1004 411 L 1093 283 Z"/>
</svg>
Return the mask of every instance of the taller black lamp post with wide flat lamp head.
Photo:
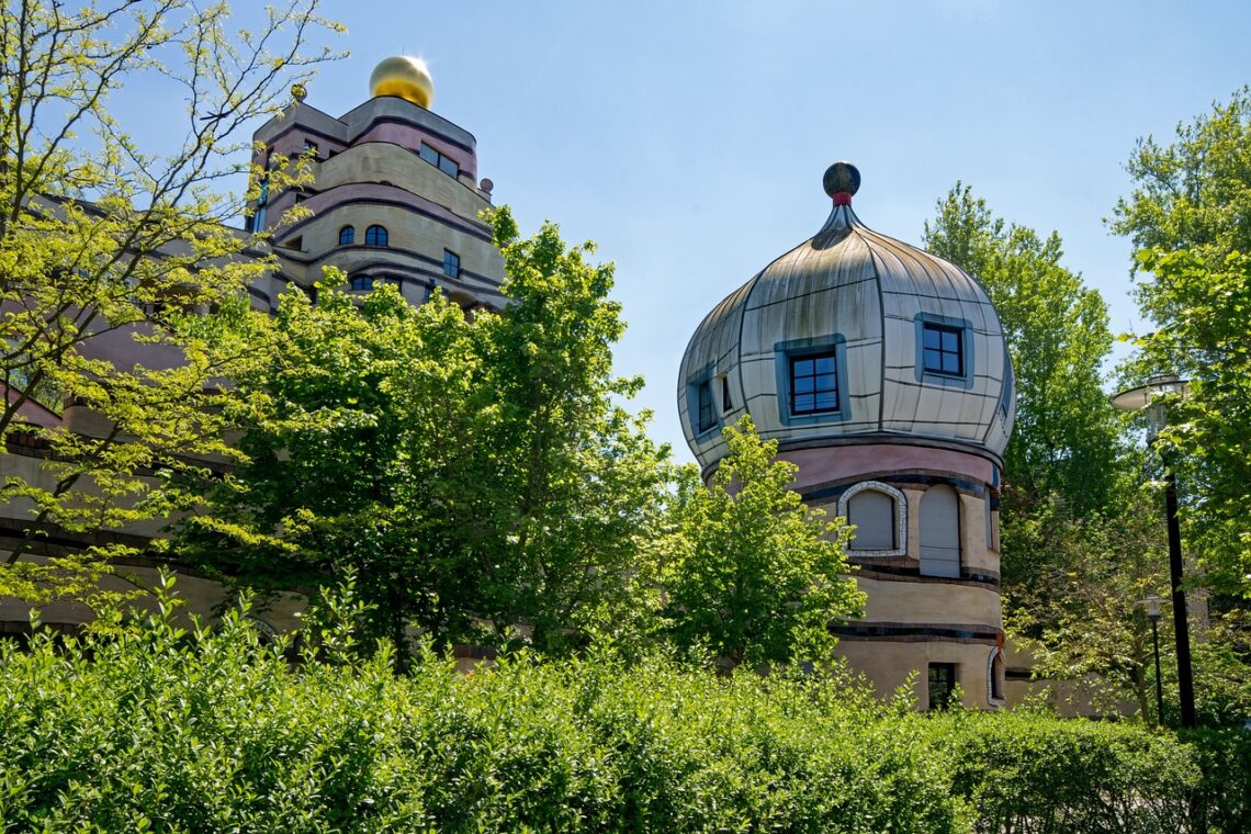
<svg viewBox="0 0 1251 834">
<path fill-rule="evenodd" d="M 1167 394 L 1185 395 L 1190 383 L 1176 376 L 1152 376 L 1146 385 L 1122 391 L 1112 405 L 1125 411 L 1146 411 L 1147 443 L 1153 445 L 1167 423 L 1167 413 L 1158 399 Z M 1177 639 L 1177 698 L 1181 701 L 1181 725 L 1195 726 L 1195 675 L 1190 661 L 1190 625 L 1186 619 L 1186 591 L 1182 589 L 1181 528 L 1177 525 L 1177 476 L 1168 460 L 1165 466 L 1165 518 L 1168 524 L 1168 584 L 1172 588 L 1173 635 Z M 1160 675 L 1156 675 L 1158 684 Z"/>
</svg>

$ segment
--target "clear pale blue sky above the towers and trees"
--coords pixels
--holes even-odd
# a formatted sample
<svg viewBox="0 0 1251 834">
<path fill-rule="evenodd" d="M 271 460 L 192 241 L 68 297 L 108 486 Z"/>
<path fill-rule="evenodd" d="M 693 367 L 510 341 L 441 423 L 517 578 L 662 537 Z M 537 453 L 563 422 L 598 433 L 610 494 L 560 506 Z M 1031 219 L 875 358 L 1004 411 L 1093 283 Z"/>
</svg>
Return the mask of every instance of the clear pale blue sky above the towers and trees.
<svg viewBox="0 0 1251 834">
<path fill-rule="evenodd" d="M 241 1 L 241 0 L 240 0 Z M 424 58 L 433 110 L 478 139 L 479 175 L 524 231 L 558 221 L 617 264 L 653 436 L 691 454 L 678 363 L 712 306 L 809 238 L 821 176 L 862 173 L 856 211 L 918 243 L 963 180 L 1006 219 L 1060 231 L 1117 331 L 1130 246 L 1103 225 L 1140 136 L 1251 83 L 1251 3 L 328 0 L 350 59 L 308 103 L 339 115 L 374 64 Z"/>
</svg>

